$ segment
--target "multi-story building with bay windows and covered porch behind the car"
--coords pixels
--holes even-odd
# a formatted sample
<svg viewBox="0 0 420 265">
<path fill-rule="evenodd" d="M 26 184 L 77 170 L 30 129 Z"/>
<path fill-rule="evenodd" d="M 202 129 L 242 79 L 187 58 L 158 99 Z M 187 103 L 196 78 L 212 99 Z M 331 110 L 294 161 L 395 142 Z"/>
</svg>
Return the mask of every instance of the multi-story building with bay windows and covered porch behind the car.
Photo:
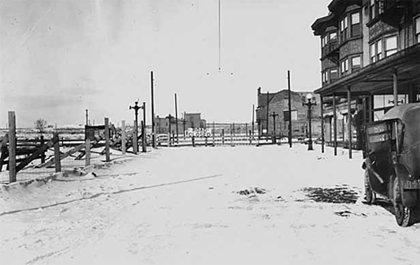
<svg viewBox="0 0 420 265">
<path fill-rule="evenodd" d="M 328 10 L 311 26 L 320 38 L 322 132 L 336 148 L 361 148 L 363 124 L 420 101 L 420 1 L 333 0 Z"/>
</svg>

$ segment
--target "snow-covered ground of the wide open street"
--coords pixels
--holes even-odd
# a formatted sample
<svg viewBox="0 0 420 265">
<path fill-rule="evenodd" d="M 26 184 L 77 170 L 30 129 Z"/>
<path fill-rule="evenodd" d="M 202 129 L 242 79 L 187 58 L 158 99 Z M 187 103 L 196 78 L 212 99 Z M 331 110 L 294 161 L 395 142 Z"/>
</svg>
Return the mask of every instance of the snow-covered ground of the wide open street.
<svg viewBox="0 0 420 265">
<path fill-rule="evenodd" d="M 306 149 L 160 149 L 0 187 L 0 262 L 418 264 L 420 224 L 362 203 L 362 154 Z"/>
</svg>

